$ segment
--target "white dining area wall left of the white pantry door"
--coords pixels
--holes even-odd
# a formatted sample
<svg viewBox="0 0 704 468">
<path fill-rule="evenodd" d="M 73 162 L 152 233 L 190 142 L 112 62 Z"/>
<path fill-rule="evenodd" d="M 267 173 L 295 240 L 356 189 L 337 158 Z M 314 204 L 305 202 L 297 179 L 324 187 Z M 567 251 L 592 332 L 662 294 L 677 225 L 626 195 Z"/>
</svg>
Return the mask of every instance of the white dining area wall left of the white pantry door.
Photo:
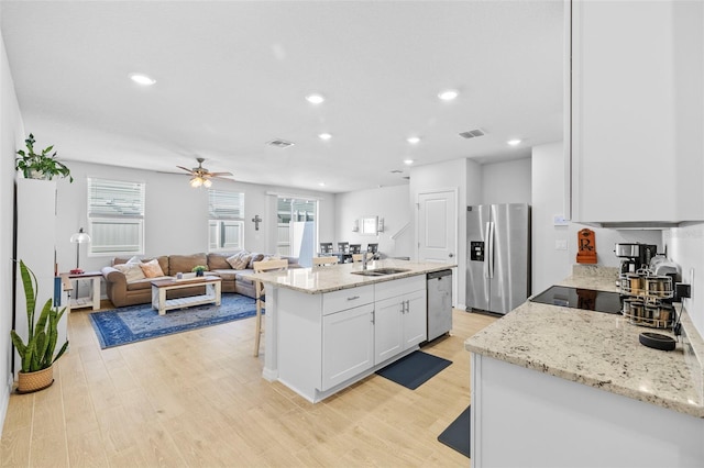
<svg viewBox="0 0 704 468">
<path fill-rule="evenodd" d="M 334 237 L 320 237 L 320 242 L 349 242 L 350 244 L 378 243 L 380 253 L 388 257 L 413 257 L 414 225 L 409 186 L 382 187 L 378 189 L 338 193 L 336 197 Z M 378 235 L 363 235 L 352 232 L 355 221 L 362 216 L 384 219 L 384 232 Z M 406 230 L 396 238 L 392 236 Z"/>
</svg>

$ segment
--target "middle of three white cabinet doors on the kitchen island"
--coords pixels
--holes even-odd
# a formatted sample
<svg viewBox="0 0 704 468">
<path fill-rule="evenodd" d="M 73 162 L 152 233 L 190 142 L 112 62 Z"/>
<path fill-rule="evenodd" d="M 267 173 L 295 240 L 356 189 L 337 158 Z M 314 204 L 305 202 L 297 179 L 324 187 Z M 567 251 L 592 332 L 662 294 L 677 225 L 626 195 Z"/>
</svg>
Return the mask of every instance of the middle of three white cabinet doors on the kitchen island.
<svg viewBox="0 0 704 468">
<path fill-rule="evenodd" d="M 377 301 L 374 310 L 374 364 L 404 350 L 404 301 L 389 298 Z"/>
</svg>

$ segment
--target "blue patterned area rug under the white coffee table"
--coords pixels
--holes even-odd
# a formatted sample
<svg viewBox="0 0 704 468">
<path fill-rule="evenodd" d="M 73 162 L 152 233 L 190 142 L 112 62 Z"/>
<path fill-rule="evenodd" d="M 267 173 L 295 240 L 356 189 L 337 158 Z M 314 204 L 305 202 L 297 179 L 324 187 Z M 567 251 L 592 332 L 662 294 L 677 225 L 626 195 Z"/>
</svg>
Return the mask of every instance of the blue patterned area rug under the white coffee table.
<svg viewBox="0 0 704 468">
<path fill-rule="evenodd" d="M 255 314 L 254 299 L 235 293 L 223 293 L 220 307 L 195 305 L 160 315 L 155 309 L 152 309 L 152 304 L 141 304 L 94 312 L 89 316 L 100 347 L 105 349 L 246 319 Z"/>
</svg>

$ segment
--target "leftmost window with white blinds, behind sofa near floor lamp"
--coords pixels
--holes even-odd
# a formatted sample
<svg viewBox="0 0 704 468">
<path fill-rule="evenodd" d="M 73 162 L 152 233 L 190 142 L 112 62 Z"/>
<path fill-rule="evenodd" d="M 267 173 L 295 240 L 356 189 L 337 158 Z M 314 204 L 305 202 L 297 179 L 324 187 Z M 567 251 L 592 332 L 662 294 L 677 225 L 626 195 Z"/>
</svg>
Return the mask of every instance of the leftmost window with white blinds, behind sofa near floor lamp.
<svg viewBox="0 0 704 468">
<path fill-rule="evenodd" d="M 144 253 L 143 182 L 88 178 L 91 255 Z"/>
</svg>

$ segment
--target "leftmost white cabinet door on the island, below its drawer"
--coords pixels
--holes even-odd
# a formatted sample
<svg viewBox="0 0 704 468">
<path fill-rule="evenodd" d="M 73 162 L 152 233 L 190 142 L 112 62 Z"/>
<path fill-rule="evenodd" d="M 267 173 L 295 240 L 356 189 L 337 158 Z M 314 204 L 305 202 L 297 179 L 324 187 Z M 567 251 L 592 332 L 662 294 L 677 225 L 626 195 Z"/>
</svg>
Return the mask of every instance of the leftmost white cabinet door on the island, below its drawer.
<svg viewBox="0 0 704 468">
<path fill-rule="evenodd" d="M 322 317 L 322 389 L 328 390 L 374 365 L 374 304 Z"/>
</svg>

